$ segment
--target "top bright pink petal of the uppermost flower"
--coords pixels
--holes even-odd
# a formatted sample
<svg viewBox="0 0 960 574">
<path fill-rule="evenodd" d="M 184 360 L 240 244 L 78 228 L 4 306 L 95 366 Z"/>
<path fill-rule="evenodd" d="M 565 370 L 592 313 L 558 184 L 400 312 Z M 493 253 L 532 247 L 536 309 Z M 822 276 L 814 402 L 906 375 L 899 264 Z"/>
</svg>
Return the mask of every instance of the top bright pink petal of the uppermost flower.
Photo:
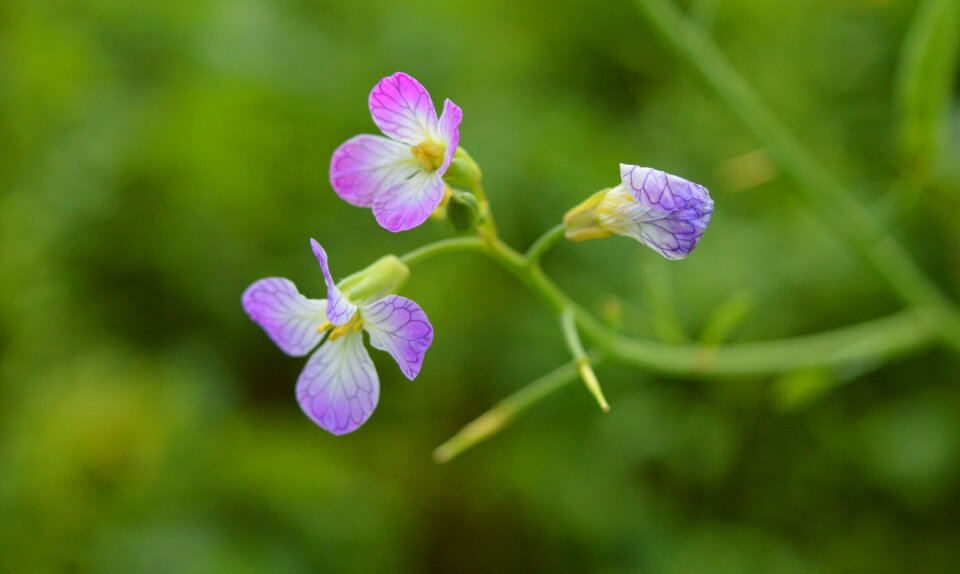
<svg viewBox="0 0 960 574">
<path fill-rule="evenodd" d="M 437 133 L 437 111 L 430 94 L 403 72 L 380 80 L 368 102 L 373 122 L 395 140 L 417 145 Z"/>
</svg>

